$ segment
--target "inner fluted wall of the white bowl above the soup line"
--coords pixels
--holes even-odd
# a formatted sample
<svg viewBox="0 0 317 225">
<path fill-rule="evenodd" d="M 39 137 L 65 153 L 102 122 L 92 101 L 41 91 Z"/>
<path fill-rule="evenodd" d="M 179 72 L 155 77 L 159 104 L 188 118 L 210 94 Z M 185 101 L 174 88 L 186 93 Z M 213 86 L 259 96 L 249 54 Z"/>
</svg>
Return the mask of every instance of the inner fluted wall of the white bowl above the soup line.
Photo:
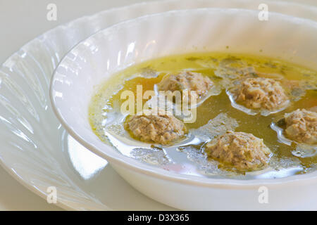
<svg viewBox="0 0 317 225">
<path fill-rule="evenodd" d="M 56 68 L 51 103 L 70 135 L 101 157 L 139 171 L 181 177 L 125 157 L 99 140 L 88 120 L 88 105 L 99 85 L 129 65 L 190 52 L 249 53 L 317 70 L 316 37 L 317 23 L 279 13 L 269 13 L 267 21 L 259 20 L 259 11 L 242 9 L 147 15 L 102 30 L 75 46 Z"/>
</svg>

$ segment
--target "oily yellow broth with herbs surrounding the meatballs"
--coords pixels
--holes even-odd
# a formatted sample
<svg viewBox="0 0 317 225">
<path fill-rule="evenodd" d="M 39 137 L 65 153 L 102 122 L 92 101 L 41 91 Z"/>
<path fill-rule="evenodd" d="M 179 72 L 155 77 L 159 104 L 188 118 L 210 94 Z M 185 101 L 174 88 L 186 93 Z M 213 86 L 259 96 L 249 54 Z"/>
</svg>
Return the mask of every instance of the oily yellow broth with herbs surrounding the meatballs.
<svg viewBox="0 0 317 225">
<path fill-rule="evenodd" d="M 199 73 L 209 77 L 213 84 L 213 93 L 197 107 L 197 120 L 185 123 L 185 137 L 169 145 L 136 139 L 127 129 L 128 115 L 120 113 L 120 105 L 125 101 L 120 95 L 125 90 L 136 94 L 137 85 L 142 85 L 143 92 L 153 90 L 163 77 L 181 72 Z M 235 93 L 240 80 L 247 78 L 277 81 L 285 90 L 287 102 L 283 96 L 283 102 L 274 110 L 269 107 L 248 109 L 249 105 L 240 103 L 239 98 L 232 102 L 230 94 Z M 278 59 L 228 53 L 168 56 L 132 65 L 101 84 L 89 105 L 89 122 L 99 139 L 123 155 L 180 174 L 235 179 L 303 174 L 316 170 L 317 146 L 285 136 L 285 113 L 298 109 L 316 112 L 316 86 L 316 71 Z M 212 158 L 206 143 L 226 131 L 244 132 L 263 139 L 271 150 L 268 165 L 241 170 Z"/>
</svg>

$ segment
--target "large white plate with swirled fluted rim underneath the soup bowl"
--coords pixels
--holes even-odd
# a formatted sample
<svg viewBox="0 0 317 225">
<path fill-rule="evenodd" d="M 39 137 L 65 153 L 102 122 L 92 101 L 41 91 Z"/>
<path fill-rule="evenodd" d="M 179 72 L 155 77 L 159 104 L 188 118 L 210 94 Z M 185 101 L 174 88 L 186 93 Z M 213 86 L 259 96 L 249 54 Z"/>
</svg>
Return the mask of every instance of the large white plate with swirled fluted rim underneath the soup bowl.
<svg viewBox="0 0 317 225">
<path fill-rule="evenodd" d="M 68 210 L 171 209 L 132 189 L 106 161 L 68 137 L 49 104 L 51 73 L 77 42 L 122 20 L 179 8 L 256 9 L 264 2 L 179 0 L 136 4 L 74 20 L 30 41 L 0 70 L 1 165 L 43 198 L 47 188 L 55 186 L 58 205 Z M 268 3 L 271 11 L 317 18 L 311 6 Z"/>
</svg>

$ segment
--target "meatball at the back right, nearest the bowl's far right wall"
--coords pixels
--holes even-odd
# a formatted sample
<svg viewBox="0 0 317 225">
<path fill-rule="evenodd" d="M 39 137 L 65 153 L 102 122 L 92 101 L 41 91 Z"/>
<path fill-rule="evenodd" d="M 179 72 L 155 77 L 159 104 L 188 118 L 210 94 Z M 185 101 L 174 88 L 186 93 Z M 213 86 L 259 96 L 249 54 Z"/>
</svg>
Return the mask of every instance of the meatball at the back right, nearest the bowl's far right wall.
<svg viewBox="0 0 317 225">
<path fill-rule="evenodd" d="M 237 102 L 242 102 L 252 109 L 273 111 L 288 103 L 288 97 L 280 82 L 262 77 L 243 79 L 233 94 Z"/>
</svg>

